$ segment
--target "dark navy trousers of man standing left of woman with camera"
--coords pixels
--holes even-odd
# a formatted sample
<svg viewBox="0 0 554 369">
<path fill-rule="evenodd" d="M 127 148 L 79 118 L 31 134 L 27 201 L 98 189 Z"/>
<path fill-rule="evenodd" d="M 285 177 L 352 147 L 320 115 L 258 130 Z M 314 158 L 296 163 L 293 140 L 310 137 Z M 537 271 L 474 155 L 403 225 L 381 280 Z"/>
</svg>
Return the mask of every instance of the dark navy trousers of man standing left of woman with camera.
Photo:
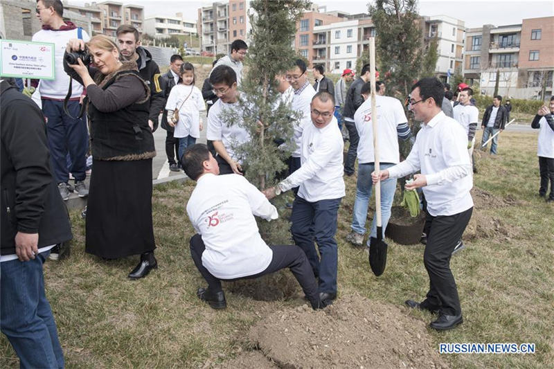
<svg viewBox="0 0 554 369">
<path fill-rule="evenodd" d="M 67 102 L 71 116 L 78 116 L 81 105 L 78 101 Z M 73 119 L 64 112 L 64 102 L 42 100 L 42 113 L 48 122 L 48 147 L 53 174 L 57 183 L 69 181 L 69 172 L 77 181 L 87 177 L 87 151 L 89 150 L 89 133 L 87 119 Z M 71 165 L 68 168 L 68 165 Z"/>
</svg>

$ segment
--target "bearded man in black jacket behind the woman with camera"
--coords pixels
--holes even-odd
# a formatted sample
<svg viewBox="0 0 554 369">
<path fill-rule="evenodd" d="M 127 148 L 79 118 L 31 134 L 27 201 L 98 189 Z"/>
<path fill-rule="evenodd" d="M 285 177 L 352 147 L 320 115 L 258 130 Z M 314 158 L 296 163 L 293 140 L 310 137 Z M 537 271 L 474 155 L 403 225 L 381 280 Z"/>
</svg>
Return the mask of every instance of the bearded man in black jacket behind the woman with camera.
<svg viewBox="0 0 554 369">
<path fill-rule="evenodd" d="M 141 44 L 139 30 L 129 24 L 123 24 L 116 30 L 116 35 L 121 55 L 125 60 L 136 62 L 141 78 L 150 87 L 148 125 L 154 132 L 158 127 L 158 117 L 166 103 L 160 84 L 160 69 L 158 64 L 152 60 L 150 52 L 139 46 Z"/>
</svg>

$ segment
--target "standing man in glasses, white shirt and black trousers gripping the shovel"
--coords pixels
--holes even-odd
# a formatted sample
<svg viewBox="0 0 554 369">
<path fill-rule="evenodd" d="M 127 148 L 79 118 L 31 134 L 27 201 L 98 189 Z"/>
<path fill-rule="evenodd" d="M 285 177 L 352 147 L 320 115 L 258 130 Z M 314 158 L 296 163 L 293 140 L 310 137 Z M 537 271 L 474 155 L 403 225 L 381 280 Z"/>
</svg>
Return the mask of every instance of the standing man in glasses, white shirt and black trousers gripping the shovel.
<svg viewBox="0 0 554 369">
<path fill-rule="evenodd" d="M 450 270 L 450 257 L 473 211 L 472 166 L 467 155 L 466 132 L 440 106 L 445 95 L 443 84 L 436 78 L 423 78 L 411 91 L 409 109 L 422 125 L 413 148 L 402 163 L 371 174 L 373 183 L 414 174 L 406 190 L 422 187 L 427 199 L 429 233 L 423 262 L 429 274 L 427 298 L 421 303 L 406 300 L 415 309 L 438 312 L 431 327 L 449 330 L 462 323 L 458 289 Z"/>
</svg>

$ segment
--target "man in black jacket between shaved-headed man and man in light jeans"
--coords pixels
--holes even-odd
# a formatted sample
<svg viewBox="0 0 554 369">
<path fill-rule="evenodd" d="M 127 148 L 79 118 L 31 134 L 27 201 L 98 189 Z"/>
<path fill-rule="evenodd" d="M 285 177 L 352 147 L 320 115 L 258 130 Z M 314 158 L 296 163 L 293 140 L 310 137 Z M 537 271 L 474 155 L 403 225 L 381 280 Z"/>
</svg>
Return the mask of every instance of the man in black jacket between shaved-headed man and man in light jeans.
<svg viewBox="0 0 554 369">
<path fill-rule="evenodd" d="M 344 162 L 344 174 L 351 176 L 354 174 L 354 163 L 356 161 L 356 152 L 358 150 L 359 135 L 356 129 L 356 123 L 354 123 L 354 113 L 364 103 L 364 98 L 361 96 L 361 87 L 364 83 L 368 82 L 370 77 L 369 64 L 364 65 L 361 69 L 359 77 L 356 78 L 346 93 L 346 99 L 344 101 L 344 109 L 342 111 L 343 122 L 348 129 L 348 140 L 350 146 L 348 147 L 348 154 L 346 155 L 346 161 Z"/>
</svg>

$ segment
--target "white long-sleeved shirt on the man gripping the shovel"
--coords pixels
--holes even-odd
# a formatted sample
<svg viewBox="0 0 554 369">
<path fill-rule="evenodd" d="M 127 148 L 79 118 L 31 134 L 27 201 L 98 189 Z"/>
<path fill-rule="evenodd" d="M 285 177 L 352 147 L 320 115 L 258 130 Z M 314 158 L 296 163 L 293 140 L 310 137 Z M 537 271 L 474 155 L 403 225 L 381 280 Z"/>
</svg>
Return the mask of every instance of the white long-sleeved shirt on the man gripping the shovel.
<svg viewBox="0 0 554 369">
<path fill-rule="evenodd" d="M 421 170 L 430 215 L 455 215 L 473 206 L 472 165 L 463 128 L 443 111 L 422 125 L 405 161 L 388 169 L 391 178 Z"/>
</svg>

